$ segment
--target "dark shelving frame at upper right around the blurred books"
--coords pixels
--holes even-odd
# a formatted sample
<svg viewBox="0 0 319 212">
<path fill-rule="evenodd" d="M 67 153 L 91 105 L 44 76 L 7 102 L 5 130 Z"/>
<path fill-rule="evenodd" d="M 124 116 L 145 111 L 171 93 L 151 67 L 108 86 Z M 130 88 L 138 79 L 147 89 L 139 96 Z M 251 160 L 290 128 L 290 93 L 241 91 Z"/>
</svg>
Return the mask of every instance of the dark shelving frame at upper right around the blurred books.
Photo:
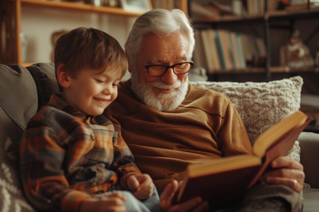
<svg viewBox="0 0 319 212">
<path fill-rule="evenodd" d="M 265 0 L 265 7 L 267 7 L 268 1 Z M 189 8 L 192 5 L 192 1 L 189 1 Z M 319 17 L 319 8 L 310 8 L 309 1 L 307 7 L 303 9 L 297 10 L 274 10 L 274 11 L 267 11 L 265 10 L 263 14 L 253 14 L 253 15 L 245 15 L 245 16 L 238 16 L 238 15 L 230 15 L 225 14 L 223 16 L 204 16 L 204 17 L 192 17 L 192 10 L 189 10 L 189 15 L 193 20 L 193 24 L 195 30 L 203 31 L 208 29 L 213 29 L 214 31 L 219 31 L 221 28 L 229 29 L 232 31 L 233 25 L 240 25 L 244 27 L 250 27 L 251 25 L 262 25 L 262 35 L 259 36 L 263 38 L 264 46 L 267 52 L 267 60 L 265 64 L 259 67 L 247 67 L 243 68 L 233 68 L 233 69 L 214 69 L 214 70 L 207 70 L 208 72 L 208 79 L 209 80 L 218 80 L 220 75 L 235 75 L 235 74 L 262 74 L 264 81 L 270 81 L 273 75 L 282 74 L 282 73 L 290 73 L 291 75 L 299 74 L 299 73 L 314 73 L 317 74 L 317 69 L 315 67 L 305 67 L 305 68 L 288 68 L 288 67 L 280 67 L 279 64 L 272 63 L 272 53 L 274 50 L 274 42 L 271 39 L 273 36 L 271 31 L 272 29 L 280 28 L 282 31 L 291 32 L 295 28 L 295 23 L 298 20 L 317 20 Z M 319 23 L 319 22 L 317 22 Z M 306 43 L 309 40 L 313 39 L 313 37 L 318 36 L 319 25 L 314 27 L 308 33 L 308 37 L 305 39 Z M 238 28 L 238 27 L 237 27 Z M 253 27 L 250 27 L 253 28 Z M 260 28 L 259 28 L 260 29 Z M 254 29 L 248 29 L 248 34 L 255 34 Z M 258 30 L 260 32 L 260 30 Z M 201 41 L 203 42 L 203 41 Z M 197 42 L 198 44 L 199 42 Z M 205 43 L 206 45 L 207 43 Z M 281 43 L 282 45 L 285 43 Z M 278 44 L 277 44 L 278 45 Z M 279 49 L 278 49 L 279 51 Z M 195 50 L 196 54 L 196 50 Z M 196 55 L 194 55 L 194 62 L 196 63 Z M 312 54 L 314 58 L 314 54 Z M 277 59 L 277 58 L 276 58 Z M 207 62 L 208 63 L 208 62 Z M 207 66 L 205 67 L 207 69 Z"/>
</svg>

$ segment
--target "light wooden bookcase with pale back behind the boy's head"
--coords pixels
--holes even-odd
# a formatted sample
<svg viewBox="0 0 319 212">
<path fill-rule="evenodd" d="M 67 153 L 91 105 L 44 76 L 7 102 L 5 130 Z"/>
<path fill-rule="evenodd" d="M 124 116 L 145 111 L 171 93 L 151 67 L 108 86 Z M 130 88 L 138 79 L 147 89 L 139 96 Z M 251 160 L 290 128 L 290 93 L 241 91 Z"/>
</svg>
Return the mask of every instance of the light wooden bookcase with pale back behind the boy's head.
<svg viewBox="0 0 319 212">
<path fill-rule="evenodd" d="M 32 59 L 23 59 L 26 53 L 22 51 L 22 43 L 20 39 L 20 33 L 26 28 L 25 25 L 31 25 L 34 29 L 39 31 L 39 28 L 43 27 L 43 30 L 35 35 L 36 33 L 30 34 L 26 33 L 26 37 L 29 38 L 33 46 L 28 46 L 32 48 L 33 52 L 28 52 L 28 54 L 34 54 L 34 52 L 40 52 L 41 54 L 49 54 L 47 48 L 43 46 L 49 46 L 49 37 L 52 31 L 58 31 L 58 29 L 64 28 L 74 28 L 79 25 L 96 27 L 97 22 L 101 22 L 101 19 L 112 19 L 111 26 L 100 28 L 103 31 L 116 37 L 119 42 L 124 43 L 126 36 L 130 30 L 132 20 L 140 16 L 142 13 L 139 12 L 129 12 L 125 11 L 120 7 L 108 7 L 108 6 L 94 6 L 92 4 L 85 4 L 84 1 L 67 1 L 67 0 L 12 0 L 3 1 L 0 5 L 2 15 L 0 26 L 2 28 L 2 35 L 0 40 L 1 57 L 0 63 L 2 64 L 21 64 L 23 66 L 30 66 L 37 62 L 48 62 L 43 61 L 43 57 L 33 56 Z M 188 1 L 178 0 L 178 1 L 150 1 L 153 7 L 159 6 L 163 8 L 178 7 L 181 10 L 188 11 Z M 119 4 L 119 1 L 118 1 Z M 26 11 L 26 12 L 25 12 Z M 43 12 L 44 11 L 44 12 Z M 74 17 L 72 17 L 74 16 Z M 81 22 L 85 16 L 88 19 L 92 19 L 91 22 Z M 73 25 L 70 22 L 69 17 L 75 22 Z M 25 20 L 28 19 L 29 21 Z M 72 21 L 71 20 L 71 21 Z M 40 25 L 38 23 L 41 22 Z M 64 24 L 66 22 L 66 24 Z M 27 23 L 27 24 L 25 24 Z M 34 23 L 34 24 L 33 24 Z M 61 26 L 59 25 L 61 23 Z M 107 22 L 107 24 L 110 22 Z M 107 25 L 105 24 L 105 25 Z M 47 27 L 52 25 L 51 28 Z M 59 28 L 60 27 L 60 28 Z M 54 30 L 55 28 L 55 30 Z M 107 30 L 105 30 L 107 28 Z M 116 31 L 116 32 L 114 32 Z M 23 32 L 24 33 L 24 32 Z M 114 33 L 114 34 L 112 34 Z M 48 41 L 44 43 L 42 37 L 46 37 Z M 41 40 L 42 39 L 42 40 Z M 42 42 L 42 43 L 41 43 Z M 42 46 L 42 47 L 39 47 Z M 40 53 L 38 53 L 40 54 Z M 45 58 L 48 58 L 46 56 Z M 26 61 L 25 61 L 26 60 Z"/>
</svg>

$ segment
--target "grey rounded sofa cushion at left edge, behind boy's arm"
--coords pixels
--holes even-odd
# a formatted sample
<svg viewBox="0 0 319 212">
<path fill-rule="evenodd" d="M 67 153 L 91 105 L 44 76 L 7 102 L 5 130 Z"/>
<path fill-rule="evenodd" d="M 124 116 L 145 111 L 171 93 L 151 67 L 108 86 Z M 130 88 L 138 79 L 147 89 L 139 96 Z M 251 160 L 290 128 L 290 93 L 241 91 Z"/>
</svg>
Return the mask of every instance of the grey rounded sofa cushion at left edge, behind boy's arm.
<svg viewBox="0 0 319 212">
<path fill-rule="evenodd" d="M 0 207 L 35 211 L 24 198 L 18 166 L 21 135 L 38 107 L 37 90 L 25 68 L 0 65 Z"/>
</svg>

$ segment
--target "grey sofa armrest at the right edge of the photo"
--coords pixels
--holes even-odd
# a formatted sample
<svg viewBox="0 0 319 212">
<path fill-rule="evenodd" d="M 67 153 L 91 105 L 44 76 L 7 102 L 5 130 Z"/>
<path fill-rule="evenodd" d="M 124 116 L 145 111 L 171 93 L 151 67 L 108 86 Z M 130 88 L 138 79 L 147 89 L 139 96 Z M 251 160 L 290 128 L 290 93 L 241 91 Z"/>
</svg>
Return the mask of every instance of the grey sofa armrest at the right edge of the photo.
<svg viewBox="0 0 319 212">
<path fill-rule="evenodd" d="M 298 138 L 301 153 L 300 162 L 306 174 L 305 183 L 319 188 L 319 134 L 302 132 Z"/>
</svg>

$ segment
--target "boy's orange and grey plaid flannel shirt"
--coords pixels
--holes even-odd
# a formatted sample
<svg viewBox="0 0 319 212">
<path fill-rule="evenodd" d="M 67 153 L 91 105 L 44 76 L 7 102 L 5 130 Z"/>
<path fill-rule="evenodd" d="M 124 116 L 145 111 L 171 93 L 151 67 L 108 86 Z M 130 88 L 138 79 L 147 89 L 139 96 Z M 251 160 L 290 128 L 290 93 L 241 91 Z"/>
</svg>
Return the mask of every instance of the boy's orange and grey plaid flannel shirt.
<svg viewBox="0 0 319 212">
<path fill-rule="evenodd" d="M 36 208 L 77 211 L 83 199 L 118 183 L 126 188 L 127 177 L 141 172 L 115 119 L 85 116 L 52 95 L 23 133 L 20 173 Z"/>
</svg>

